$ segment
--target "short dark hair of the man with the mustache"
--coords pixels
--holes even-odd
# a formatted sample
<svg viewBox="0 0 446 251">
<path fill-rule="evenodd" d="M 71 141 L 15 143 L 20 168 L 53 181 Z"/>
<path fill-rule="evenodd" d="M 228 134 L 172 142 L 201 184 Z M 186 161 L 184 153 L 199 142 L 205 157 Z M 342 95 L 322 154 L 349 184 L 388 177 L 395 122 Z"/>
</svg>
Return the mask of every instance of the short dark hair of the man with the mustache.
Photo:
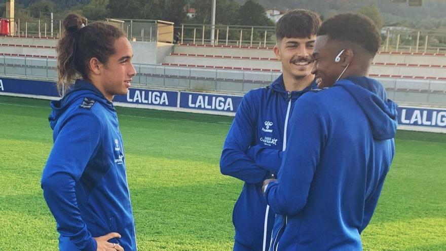
<svg viewBox="0 0 446 251">
<path fill-rule="evenodd" d="M 316 35 L 321 22 L 315 12 L 304 9 L 288 11 L 276 23 L 276 39 L 310 38 Z"/>
</svg>

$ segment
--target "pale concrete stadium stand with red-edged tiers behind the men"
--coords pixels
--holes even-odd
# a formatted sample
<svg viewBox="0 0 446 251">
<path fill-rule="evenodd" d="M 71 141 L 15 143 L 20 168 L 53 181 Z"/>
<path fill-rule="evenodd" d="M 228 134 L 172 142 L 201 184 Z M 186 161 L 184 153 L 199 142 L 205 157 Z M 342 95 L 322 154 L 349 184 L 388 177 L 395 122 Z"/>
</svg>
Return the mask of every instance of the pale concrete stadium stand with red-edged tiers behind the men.
<svg viewBox="0 0 446 251">
<path fill-rule="evenodd" d="M 0 37 L 0 75 L 55 79 L 56 42 Z M 165 54 L 161 64 L 135 62 L 135 86 L 242 94 L 281 74 L 271 47 L 182 44 Z M 398 102 L 446 105 L 444 54 L 379 52 L 370 77 L 382 82 Z"/>
</svg>

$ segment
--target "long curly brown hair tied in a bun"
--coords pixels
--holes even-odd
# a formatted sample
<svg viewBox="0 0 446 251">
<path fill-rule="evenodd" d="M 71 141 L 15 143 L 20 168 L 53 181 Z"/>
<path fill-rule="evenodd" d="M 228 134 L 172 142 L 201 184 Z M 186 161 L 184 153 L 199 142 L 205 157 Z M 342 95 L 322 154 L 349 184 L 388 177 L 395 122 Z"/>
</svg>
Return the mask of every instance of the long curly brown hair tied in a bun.
<svg viewBox="0 0 446 251">
<path fill-rule="evenodd" d="M 88 63 L 96 57 L 106 64 L 115 54 L 115 41 L 125 37 L 124 31 L 106 23 L 87 25 L 87 19 L 78 14 L 69 14 L 63 20 L 65 32 L 56 46 L 58 81 L 57 89 L 68 90 L 72 80 L 82 76 L 88 80 Z M 62 88 L 62 87 L 65 88 Z"/>
</svg>

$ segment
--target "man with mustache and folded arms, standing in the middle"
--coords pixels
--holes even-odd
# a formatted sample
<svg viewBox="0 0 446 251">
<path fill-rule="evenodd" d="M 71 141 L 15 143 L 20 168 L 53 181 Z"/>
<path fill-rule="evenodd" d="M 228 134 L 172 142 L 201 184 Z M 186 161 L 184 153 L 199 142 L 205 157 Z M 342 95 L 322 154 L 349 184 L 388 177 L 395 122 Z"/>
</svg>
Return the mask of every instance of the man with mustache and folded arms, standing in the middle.
<svg viewBox="0 0 446 251">
<path fill-rule="evenodd" d="M 302 9 L 277 22 L 274 52 L 283 73 L 269 86 L 244 96 L 228 132 L 220 170 L 245 183 L 233 212 L 234 250 L 269 246 L 275 212 L 262 195 L 262 182 L 279 171 L 294 102 L 316 88 L 311 54 L 320 23 L 316 13 Z"/>
</svg>

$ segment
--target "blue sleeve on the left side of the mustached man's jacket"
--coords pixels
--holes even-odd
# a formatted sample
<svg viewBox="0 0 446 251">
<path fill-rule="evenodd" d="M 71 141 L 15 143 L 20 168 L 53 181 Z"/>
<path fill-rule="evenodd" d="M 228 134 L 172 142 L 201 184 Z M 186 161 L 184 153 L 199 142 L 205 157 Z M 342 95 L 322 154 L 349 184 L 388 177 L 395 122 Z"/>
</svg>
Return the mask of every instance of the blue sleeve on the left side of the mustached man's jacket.
<svg viewBox="0 0 446 251">
<path fill-rule="evenodd" d="M 251 106 L 251 92 L 247 93 L 229 129 L 220 158 L 220 171 L 247 183 L 262 182 L 269 171 L 258 166 L 247 152 L 255 137 L 255 111 Z"/>
</svg>

